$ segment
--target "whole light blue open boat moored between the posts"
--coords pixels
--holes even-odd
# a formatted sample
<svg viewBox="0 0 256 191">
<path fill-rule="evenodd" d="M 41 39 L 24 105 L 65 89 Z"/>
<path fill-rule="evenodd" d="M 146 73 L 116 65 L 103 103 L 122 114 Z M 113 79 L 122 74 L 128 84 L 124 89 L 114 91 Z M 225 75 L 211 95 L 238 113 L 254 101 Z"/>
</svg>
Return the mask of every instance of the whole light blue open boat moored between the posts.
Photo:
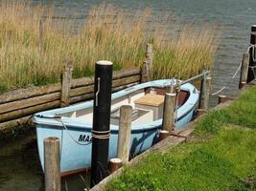
<svg viewBox="0 0 256 191">
<path fill-rule="evenodd" d="M 119 108 L 122 105 L 129 104 L 133 108 L 130 155 L 139 154 L 152 146 L 161 129 L 165 87 L 170 83 L 173 83 L 170 79 L 155 80 L 112 94 L 109 158 L 117 156 Z M 175 123 L 177 129 L 191 121 L 199 97 L 197 89 L 190 83 L 183 84 L 180 90 Z M 42 168 L 43 139 L 47 137 L 59 138 L 61 176 L 90 167 L 92 115 L 93 101 L 35 114 L 33 121 Z"/>
</svg>

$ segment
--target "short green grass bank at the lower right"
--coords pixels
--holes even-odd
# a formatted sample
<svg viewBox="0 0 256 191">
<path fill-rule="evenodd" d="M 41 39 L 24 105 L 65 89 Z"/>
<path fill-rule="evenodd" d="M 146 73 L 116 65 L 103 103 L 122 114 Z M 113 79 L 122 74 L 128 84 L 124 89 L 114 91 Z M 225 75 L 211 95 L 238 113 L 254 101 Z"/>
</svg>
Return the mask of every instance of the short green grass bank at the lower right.
<svg viewBox="0 0 256 191">
<path fill-rule="evenodd" d="M 198 121 L 188 143 L 151 154 L 106 190 L 256 190 L 256 87 Z"/>
</svg>

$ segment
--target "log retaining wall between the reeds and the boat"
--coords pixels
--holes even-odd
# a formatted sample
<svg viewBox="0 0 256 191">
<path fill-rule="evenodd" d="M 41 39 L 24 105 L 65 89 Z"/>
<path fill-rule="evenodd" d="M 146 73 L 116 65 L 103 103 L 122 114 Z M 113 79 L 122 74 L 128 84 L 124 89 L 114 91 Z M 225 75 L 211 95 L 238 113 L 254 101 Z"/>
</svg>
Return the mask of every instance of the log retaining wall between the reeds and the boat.
<svg viewBox="0 0 256 191">
<path fill-rule="evenodd" d="M 13 133 L 13 129 L 26 123 L 37 112 L 91 99 L 94 78 L 72 79 L 71 75 L 72 70 L 64 70 L 61 83 L 20 89 L 0 95 L 0 138 L 1 134 L 7 136 Z M 140 69 L 114 72 L 112 91 L 116 92 L 140 83 L 141 76 Z"/>
</svg>

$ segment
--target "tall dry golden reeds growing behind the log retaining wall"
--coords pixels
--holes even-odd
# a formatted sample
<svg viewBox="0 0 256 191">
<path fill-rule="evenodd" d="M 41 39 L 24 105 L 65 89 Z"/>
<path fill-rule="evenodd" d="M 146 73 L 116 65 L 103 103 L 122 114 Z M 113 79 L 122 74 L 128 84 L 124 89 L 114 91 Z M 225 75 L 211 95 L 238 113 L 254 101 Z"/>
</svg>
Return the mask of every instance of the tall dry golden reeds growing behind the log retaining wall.
<svg viewBox="0 0 256 191">
<path fill-rule="evenodd" d="M 154 47 L 154 78 L 185 78 L 198 74 L 203 63 L 213 64 L 213 27 L 180 26 L 168 14 L 101 5 L 73 32 L 74 20 L 56 19 L 54 9 L 11 2 L 0 4 L 0 92 L 57 82 L 67 58 L 74 62 L 74 77 L 92 74 L 100 59 L 113 61 L 115 70 L 139 66 L 148 42 Z"/>
</svg>

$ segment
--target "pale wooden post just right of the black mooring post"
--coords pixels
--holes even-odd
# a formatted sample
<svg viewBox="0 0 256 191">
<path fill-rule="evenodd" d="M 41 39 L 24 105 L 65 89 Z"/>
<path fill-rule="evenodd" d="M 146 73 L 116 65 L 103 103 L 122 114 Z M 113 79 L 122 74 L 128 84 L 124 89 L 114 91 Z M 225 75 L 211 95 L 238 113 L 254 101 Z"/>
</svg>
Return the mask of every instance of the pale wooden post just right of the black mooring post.
<svg viewBox="0 0 256 191">
<path fill-rule="evenodd" d="M 120 108 L 117 157 L 124 164 L 128 163 L 129 158 L 131 113 L 132 107 L 130 105 L 123 105 Z"/>
</svg>

